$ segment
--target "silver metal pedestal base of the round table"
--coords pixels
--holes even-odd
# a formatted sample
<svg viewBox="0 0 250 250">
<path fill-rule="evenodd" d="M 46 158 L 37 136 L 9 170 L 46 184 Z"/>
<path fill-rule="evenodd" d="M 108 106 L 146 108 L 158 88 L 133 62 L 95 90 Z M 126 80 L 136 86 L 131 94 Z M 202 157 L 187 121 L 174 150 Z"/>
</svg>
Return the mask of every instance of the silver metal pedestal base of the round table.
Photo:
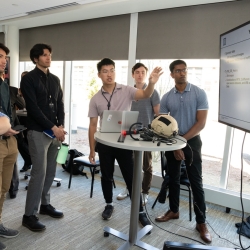
<svg viewBox="0 0 250 250">
<path fill-rule="evenodd" d="M 120 246 L 118 248 L 118 250 L 125 250 L 125 249 L 130 249 L 130 247 L 132 246 L 138 246 L 142 249 L 147 249 L 147 250 L 159 250 L 158 248 L 155 248 L 153 246 L 150 246 L 149 244 L 147 243 L 144 243 L 142 241 L 140 241 L 140 239 L 145 236 L 149 231 L 152 230 L 152 226 L 145 226 L 143 227 L 140 231 L 137 232 L 137 240 L 135 243 L 132 243 L 132 242 L 129 242 L 129 236 L 127 234 L 124 234 L 122 232 L 119 232 L 113 228 L 110 228 L 110 227 L 104 227 L 103 228 L 103 231 L 104 231 L 104 234 L 106 233 L 106 236 L 108 236 L 109 234 L 112 234 L 114 236 L 116 236 L 117 238 L 120 238 L 120 239 L 123 239 L 125 240 L 126 242 Z"/>
</svg>

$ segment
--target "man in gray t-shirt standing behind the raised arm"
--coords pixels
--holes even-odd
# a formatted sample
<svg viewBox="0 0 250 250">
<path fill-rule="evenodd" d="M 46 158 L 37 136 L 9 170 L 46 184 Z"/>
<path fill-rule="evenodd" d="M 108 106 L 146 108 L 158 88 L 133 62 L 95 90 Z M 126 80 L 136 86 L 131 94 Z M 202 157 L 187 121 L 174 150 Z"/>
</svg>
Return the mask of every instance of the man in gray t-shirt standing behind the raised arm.
<svg viewBox="0 0 250 250">
<path fill-rule="evenodd" d="M 137 89 L 145 89 L 147 87 L 146 77 L 148 68 L 142 63 L 136 63 L 132 68 L 132 76 L 135 79 L 134 87 Z M 139 111 L 138 122 L 141 122 L 143 126 L 148 126 L 154 119 L 154 115 L 159 114 L 160 110 L 160 96 L 156 90 L 150 98 L 143 100 L 135 100 L 132 102 L 132 111 Z M 148 201 L 148 191 L 151 186 L 152 181 L 152 152 L 145 151 L 143 155 L 143 180 L 142 180 L 142 204 L 145 205 Z M 125 188 L 120 194 L 118 194 L 117 199 L 122 200 L 128 197 L 128 189 Z"/>
</svg>

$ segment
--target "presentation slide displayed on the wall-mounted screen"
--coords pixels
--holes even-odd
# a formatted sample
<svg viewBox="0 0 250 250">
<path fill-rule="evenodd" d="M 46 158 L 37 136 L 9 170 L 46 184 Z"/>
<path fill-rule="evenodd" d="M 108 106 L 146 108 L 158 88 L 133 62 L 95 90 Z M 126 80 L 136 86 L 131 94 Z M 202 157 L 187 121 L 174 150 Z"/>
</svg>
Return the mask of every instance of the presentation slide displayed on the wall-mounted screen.
<svg viewBox="0 0 250 250">
<path fill-rule="evenodd" d="M 219 121 L 250 131 L 250 23 L 221 35 Z"/>
</svg>

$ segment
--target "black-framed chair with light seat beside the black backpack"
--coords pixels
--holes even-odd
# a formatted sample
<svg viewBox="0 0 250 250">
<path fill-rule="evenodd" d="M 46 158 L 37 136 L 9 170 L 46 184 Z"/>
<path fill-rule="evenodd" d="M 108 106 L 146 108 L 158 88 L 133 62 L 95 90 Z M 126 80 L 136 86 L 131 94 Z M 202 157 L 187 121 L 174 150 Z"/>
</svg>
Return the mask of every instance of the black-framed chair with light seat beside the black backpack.
<svg viewBox="0 0 250 250">
<path fill-rule="evenodd" d="M 74 154 L 75 150 L 69 150 L 69 164 L 71 164 L 70 166 L 70 176 L 69 176 L 69 185 L 68 188 L 70 188 L 71 186 L 71 179 L 72 179 L 72 174 L 73 174 L 73 165 L 74 168 L 80 168 L 80 167 L 88 167 L 92 176 L 92 180 L 91 180 L 91 188 L 90 188 L 90 198 L 92 198 L 93 196 L 93 187 L 94 187 L 94 181 L 95 181 L 95 174 L 98 174 L 100 172 L 99 167 L 100 167 L 100 162 L 99 160 L 96 160 L 95 164 L 91 164 L 89 162 L 89 157 L 88 156 L 80 156 L 80 157 L 76 157 L 75 158 L 75 154 Z M 80 170 L 79 170 L 80 171 Z M 82 171 L 80 171 L 81 175 L 84 175 L 87 179 L 88 176 L 86 173 L 83 173 Z M 113 180 L 113 186 L 114 188 L 116 188 L 115 186 L 115 182 Z"/>
</svg>

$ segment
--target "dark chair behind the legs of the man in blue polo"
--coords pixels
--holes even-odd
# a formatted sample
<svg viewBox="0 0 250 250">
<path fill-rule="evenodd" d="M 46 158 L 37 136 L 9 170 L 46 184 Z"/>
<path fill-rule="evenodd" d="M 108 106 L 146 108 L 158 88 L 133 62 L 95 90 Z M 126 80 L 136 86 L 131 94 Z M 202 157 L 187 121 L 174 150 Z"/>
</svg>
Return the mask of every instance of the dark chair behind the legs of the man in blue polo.
<svg viewBox="0 0 250 250">
<path fill-rule="evenodd" d="M 166 196 L 167 196 L 167 189 L 169 186 L 169 175 L 168 175 L 167 159 L 165 156 L 165 152 L 161 152 L 161 173 L 162 173 L 163 182 L 162 182 L 161 190 L 155 199 L 152 209 L 154 208 L 157 201 L 159 201 L 160 203 L 165 203 Z M 181 187 L 181 190 L 187 191 L 189 194 L 189 220 L 192 221 L 192 201 L 191 201 L 192 192 L 191 192 L 191 185 L 186 174 L 186 165 L 184 161 L 182 161 L 182 164 L 181 164 L 180 184 L 183 186 L 186 186 L 186 188 Z"/>
</svg>

